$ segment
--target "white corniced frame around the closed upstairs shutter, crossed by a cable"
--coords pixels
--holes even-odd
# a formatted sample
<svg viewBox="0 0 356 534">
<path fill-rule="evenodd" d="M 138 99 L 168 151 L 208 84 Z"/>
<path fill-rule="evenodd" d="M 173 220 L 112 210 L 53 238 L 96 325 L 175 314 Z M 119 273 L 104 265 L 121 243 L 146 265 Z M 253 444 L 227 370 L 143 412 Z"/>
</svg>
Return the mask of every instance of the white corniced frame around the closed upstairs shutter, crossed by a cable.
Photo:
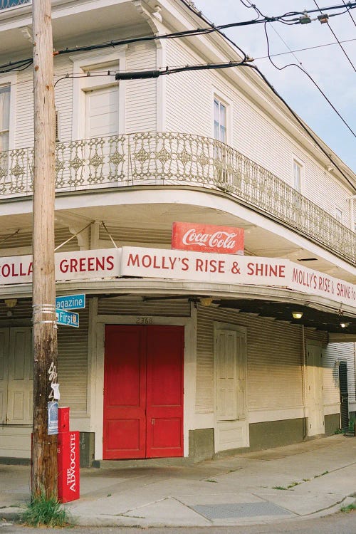
<svg viewBox="0 0 356 534">
<path fill-rule="evenodd" d="M 93 89 L 103 89 L 112 85 L 119 85 L 115 80 L 115 75 L 110 76 L 85 76 L 90 70 L 112 70 L 113 68 L 126 68 L 126 46 L 120 46 L 115 52 L 108 53 L 95 52 L 83 53 L 70 56 L 73 62 L 73 112 L 72 112 L 72 140 L 85 138 L 85 91 Z M 100 67 L 103 65 L 103 67 Z M 110 68 L 111 67 L 111 68 Z M 78 74 L 83 77 L 78 78 Z M 119 90 L 119 125 L 118 134 L 125 132 L 125 81 L 120 81 Z"/>
</svg>

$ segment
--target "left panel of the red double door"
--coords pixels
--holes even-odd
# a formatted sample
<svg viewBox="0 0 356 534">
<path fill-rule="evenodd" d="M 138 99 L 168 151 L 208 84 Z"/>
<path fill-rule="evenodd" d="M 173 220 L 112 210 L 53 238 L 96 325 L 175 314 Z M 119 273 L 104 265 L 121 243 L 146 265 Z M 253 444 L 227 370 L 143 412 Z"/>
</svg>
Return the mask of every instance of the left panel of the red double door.
<svg viewBox="0 0 356 534">
<path fill-rule="evenodd" d="M 145 332 L 105 327 L 103 459 L 145 458 Z"/>
</svg>

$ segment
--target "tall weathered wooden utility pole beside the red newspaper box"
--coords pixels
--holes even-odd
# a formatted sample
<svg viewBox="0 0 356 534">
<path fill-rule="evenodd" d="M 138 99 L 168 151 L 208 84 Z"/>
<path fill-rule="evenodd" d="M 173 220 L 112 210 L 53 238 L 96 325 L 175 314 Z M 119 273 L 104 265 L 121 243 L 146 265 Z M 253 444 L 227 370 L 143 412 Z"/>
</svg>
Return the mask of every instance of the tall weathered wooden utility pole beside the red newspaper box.
<svg viewBox="0 0 356 534">
<path fill-rule="evenodd" d="M 57 436 L 47 404 L 56 382 L 54 273 L 55 107 L 51 0 L 32 0 L 33 16 L 33 439 L 32 497 L 57 496 Z"/>
</svg>

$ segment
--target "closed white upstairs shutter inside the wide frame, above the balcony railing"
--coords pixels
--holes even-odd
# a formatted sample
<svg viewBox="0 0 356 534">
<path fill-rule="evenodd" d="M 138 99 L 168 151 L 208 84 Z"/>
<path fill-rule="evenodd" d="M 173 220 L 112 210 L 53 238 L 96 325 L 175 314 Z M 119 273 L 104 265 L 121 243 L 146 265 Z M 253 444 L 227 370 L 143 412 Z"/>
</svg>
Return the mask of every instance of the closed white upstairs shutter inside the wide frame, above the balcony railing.
<svg viewBox="0 0 356 534">
<path fill-rule="evenodd" d="M 119 86 L 85 93 L 85 137 L 116 135 L 119 129 Z"/>
</svg>

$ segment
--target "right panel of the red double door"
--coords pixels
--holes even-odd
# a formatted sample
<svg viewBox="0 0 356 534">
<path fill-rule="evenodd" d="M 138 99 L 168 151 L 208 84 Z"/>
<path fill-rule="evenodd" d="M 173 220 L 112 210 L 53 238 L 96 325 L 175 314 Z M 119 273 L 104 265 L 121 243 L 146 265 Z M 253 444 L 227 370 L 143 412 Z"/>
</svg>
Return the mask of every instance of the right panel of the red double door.
<svg viewBox="0 0 356 534">
<path fill-rule="evenodd" d="M 147 458 L 183 456 L 184 327 L 147 329 Z"/>
</svg>

